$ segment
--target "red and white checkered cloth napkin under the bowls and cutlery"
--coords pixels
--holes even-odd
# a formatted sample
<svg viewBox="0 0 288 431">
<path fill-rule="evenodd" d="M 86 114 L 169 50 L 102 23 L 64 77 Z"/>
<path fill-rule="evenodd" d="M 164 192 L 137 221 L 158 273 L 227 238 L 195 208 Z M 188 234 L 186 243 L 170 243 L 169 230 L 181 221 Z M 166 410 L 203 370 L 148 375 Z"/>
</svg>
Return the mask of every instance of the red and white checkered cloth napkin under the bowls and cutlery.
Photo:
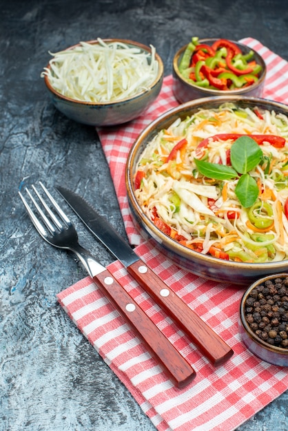
<svg viewBox="0 0 288 431">
<path fill-rule="evenodd" d="M 267 62 L 265 98 L 288 103 L 288 63 L 254 39 L 243 43 Z M 136 253 L 234 350 L 232 359 L 214 368 L 148 295 L 120 262 L 108 269 L 147 312 L 196 370 L 186 388 L 175 388 L 150 354 L 123 322 L 90 277 L 57 295 L 65 311 L 132 393 L 158 430 L 230 431 L 276 399 L 288 388 L 288 370 L 267 364 L 249 353 L 238 333 L 238 306 L 243 289 L 204 280 L 172 264 L 136 232 L 127 205 L 124 170 L 127 153 L 139 132 L 154 118 L 176 106 L 172 77 L 145 115 L 113 129 L 99 129 L 109 162 L 125 227 Z"/>
</svg>

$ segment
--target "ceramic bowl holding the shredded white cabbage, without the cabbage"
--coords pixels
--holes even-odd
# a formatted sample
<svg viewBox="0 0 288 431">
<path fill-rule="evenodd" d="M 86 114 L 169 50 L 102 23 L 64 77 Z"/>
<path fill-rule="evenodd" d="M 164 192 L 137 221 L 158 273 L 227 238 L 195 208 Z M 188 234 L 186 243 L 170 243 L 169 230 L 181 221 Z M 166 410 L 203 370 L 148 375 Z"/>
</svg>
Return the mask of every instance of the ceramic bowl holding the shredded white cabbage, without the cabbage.
<svg viewBox="0 0 288 431">
<path fill-rule="evenodd" d="M 151 48 L 142 43 L 126 40 L 126 39 L 103 39 L 105 43 L 121 42 L 130 47 L 140 48 L 143 52 L 151 53 Z M 89 41 L 88 43 L 99 43 L 98 41 Z M 68 48 L 72 50 L 80 44 L 73 45 Z M 114 126 L 122 123 L 127 123 L 134 120 L 149 107 L 158 96 L 163 83 L 163 62 L 161 57 L 156 53 L 158 61 L 158 74 L 156 79 L 150 85 L 150 88 L 143 90 L 135 96 L 123 98 L 119 101 L 107 103 L 84 102 L 68 98 L 54 90 L 47 75 L 44 76 L 45 85 L 50 94 L 50 98 L 54 106 L 59 109 L 62 114 L 68 116 L 72 120 L 85 125 L 93 126 Z M 50 69 L 50 65 L 47 65 Z"/>
</svg>

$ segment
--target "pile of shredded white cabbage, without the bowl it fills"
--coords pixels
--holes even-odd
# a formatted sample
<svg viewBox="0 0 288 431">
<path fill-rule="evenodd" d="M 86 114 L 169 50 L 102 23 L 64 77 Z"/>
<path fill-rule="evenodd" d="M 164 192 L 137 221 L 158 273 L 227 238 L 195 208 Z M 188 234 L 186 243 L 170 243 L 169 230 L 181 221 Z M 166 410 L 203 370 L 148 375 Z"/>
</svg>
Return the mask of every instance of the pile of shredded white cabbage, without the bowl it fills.
<svg viewBox="0 0 288 431">
<path fill-rule="evenodd" d="M 148 90 L 158 74 L 156 50 L 151 54 L 120 42 L 81 42 L 71 50 L 50 52 L 50 67 L 41 77 L 60 94 L 77 101 L 120 101 Z"/>
</svg>

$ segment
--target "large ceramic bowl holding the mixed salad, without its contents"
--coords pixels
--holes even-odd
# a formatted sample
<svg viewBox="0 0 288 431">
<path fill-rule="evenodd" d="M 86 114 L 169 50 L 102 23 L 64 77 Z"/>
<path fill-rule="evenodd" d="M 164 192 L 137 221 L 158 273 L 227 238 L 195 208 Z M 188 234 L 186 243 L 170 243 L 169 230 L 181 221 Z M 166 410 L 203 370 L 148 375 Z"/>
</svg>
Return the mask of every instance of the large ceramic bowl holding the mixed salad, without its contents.
<svg viewBox="0 0 288 431">
<path fill-rule="evenodd" d="M 202 98 L 197 101 L 179 105 L 154 120 L 138 136 L 127 158 L 125 182 L 127 198 L 136 227 L 145 238 L 152 238 L 154 245 L 163 252 L 165 256 L 172 260 L 172 262 L 200 277 L 216 280 L 218 282 L 233 282 L 234 284 L 249 286 L 249 284 L 259 277 L 285 272 L 288 268 L 288 260 L 262 264 L 233 262 L 190 250 L 172 240 L 169 235 L 165 235 L 155 227 L 151 220 L 143 213 L 141 206 L 137 202 L 134 190 L 134 174 L 136 172 L 138 158 L 141 156 L 147 143 L 149 143 L 161 129 L 169 127 L 177 118 L 183 120 L 187 116 L 191 116 L 194 112 L 198 111 L 200 107 L 207 109 L 217 108 L 223 103 L 229 102 L 237 103 L 240 107 L 251 107 L 252 109 L 256 106 L 263 109 L 274 109 L 276 112 L 282 112 L 288 115 L 287 105 L 266 101 L 260 98 L 218 96 L 214 98 Z"/>
</svg>

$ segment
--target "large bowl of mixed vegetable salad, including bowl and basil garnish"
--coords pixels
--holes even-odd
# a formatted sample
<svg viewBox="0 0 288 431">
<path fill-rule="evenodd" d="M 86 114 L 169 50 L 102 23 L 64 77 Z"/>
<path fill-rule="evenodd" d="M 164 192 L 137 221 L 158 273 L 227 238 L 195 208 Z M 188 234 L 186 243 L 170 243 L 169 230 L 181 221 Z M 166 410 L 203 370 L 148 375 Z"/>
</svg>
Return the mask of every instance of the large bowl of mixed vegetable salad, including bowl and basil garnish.
<svg viewBox="0 0 288 431">
<path fill-rule="evenodd" d="M 132 218 L 188 271 L 249 285 L 288 267 L 288 107 L 218 96 L 179 105 L 138 136 Z"/>
</svg>

